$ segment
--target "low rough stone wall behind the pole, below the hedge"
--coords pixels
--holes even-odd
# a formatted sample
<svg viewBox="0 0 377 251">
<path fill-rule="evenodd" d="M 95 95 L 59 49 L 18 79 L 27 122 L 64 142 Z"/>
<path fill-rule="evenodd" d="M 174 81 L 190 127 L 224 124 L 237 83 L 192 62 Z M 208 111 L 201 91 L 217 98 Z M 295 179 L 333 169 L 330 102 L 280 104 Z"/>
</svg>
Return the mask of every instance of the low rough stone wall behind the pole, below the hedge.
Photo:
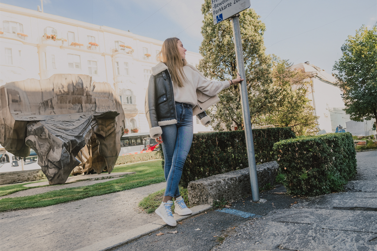
<svg viewBox="0 0 377 251">
<path fill-rule="evenodd" d="M 257 165 L 259 187 L 275 183 L 279 164 L 276 161 Z M 200 180 L 191 181 L 189 190 L 190 205 L 213 204 L 214 200 L 224 198 L 235 201 L 251 193 L 249 168 L 213 175 Z"/>
</svg>

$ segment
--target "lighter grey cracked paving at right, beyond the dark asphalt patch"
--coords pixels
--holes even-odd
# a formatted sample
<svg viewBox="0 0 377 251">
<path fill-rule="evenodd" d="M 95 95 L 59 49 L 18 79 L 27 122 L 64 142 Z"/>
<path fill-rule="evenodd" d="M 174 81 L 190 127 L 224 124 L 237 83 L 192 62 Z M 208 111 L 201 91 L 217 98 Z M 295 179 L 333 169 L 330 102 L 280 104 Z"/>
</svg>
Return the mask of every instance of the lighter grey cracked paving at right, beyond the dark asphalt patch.
<svg viewBox="0 0 377 251">
<path fill-rule="evenodd" d="M 240 224 L 212 250 L 377 250 L 376 154 L 357 153 L 358 174 L 346 192 L 294 198 L 291 208 Z"/>
</svg>

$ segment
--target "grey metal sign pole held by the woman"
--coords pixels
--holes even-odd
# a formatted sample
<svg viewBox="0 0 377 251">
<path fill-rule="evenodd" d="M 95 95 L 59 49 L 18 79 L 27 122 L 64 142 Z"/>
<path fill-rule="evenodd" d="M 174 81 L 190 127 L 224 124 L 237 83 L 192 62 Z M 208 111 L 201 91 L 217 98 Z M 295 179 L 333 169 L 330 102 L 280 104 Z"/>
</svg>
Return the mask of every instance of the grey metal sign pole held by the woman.
<svg viewBox="0 0 377 251">
<path fill-rule="evenodd" d="M 239 26 L 238 16 L 239 14 L 231 18 L 233 27 L 234 46 L 236 48 L 237 70 L 239 75 L 241 75 L 241 78 L 245 79 L 244 81 L 239 82 L 239 88 L 241 90 L 242 116 L 244 119 L 247 159 L 249 162 L 250 169 L 251 194 L 253 195 L 253 201 L 259 201 L 259 186 L 257 178 L 257 168 L 255 164 L 253 132 L 251 131 L 249 98 L 247 94 L 245 78 L 244 53 L 242 50 L 241 30 Z"/>
</svg>

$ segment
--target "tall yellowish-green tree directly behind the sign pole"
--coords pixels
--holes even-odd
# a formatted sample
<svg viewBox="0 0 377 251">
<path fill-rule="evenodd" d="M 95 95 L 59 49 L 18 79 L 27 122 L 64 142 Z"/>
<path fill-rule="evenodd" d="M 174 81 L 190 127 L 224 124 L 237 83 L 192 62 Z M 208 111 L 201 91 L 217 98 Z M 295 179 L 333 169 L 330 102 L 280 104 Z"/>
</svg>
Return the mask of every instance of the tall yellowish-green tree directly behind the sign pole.
<svg viewBox="0 0 377 251">
<path fill-rule="evenodd" d="M 204 21 L 201 33 L 203 41 L 199 51 L 203 56 L 199 70 L 209 78 L 226 80 L 236 76 L 237 63 L 234 51 L 233 30 L 230 20 L 220 24 L 213 24 L 211 1 L 205 0 L 202 5 Z M 251 122 L 256 121 L 268 108 L 270 100 L 264 88 L 271 82 L 270 57 L 265 55 L 263 33 L 265 25 L 258 18 L 253 9 L 246 9 L 240 13 L 242 48 L 244 51 L 245 74 L 242 76 L 247 82 Z M 243 129 L 241 96 L 238 85 L 219 93 L 220 101 L 208 110 L 214 129 L 222 130 L 221 123 L 230 130 L 234 122 L 239 129 Z"/>
</svg>

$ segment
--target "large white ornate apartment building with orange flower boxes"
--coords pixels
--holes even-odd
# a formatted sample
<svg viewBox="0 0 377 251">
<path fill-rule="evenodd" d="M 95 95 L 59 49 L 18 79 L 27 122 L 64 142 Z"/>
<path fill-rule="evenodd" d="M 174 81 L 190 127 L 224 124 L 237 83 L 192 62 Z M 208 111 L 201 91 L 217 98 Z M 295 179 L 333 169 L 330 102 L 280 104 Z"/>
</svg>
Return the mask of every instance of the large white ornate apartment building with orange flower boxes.
<svg viewBox="0 0 377 251">
<path fill-rule="evenodd" d="M 3 3 L 0 7 L 0 85 L 56 73 L 90 75 L 117 91 L 129 131 L 149 132 L 144 99 L 163 41 Z M 201 58 L 186 52 L 189 64 Z M 209 130 L 194 118 L 194 132 Z"/>
</svg>

